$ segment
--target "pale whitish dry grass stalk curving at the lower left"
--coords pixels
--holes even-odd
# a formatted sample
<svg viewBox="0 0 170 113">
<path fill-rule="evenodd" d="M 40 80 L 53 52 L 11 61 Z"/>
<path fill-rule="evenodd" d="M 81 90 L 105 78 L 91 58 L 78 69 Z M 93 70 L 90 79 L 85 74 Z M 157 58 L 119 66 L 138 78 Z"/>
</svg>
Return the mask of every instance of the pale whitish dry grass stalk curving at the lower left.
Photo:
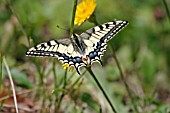
<svg viewBox="0 0 170 113">
<path fill-rule="evenodd" d="M 6 70 L 8 72 L 8 76 L 9 76 L 10 83 L 11 83 L 11 86 L 12 86 L 12 92 L 13 92 L 13 97 L 14 97 L 14 104 L 15 104 L 16 113 L 19 113 L 18 112 L 18 105 L 17 105 L 17 98 L 16 98 L 16 94 L 15 94 L 14 82 L 13 82 L 13 79 L 12 79 L 12 76 L 11 76 L 11 73 L 10 73 L 10 70 L 9 70 L 9 67 L 8 67 L 8 64 L 7 64 L 5 57 L 3 57 L 3 61 L 4 61 L 4 64 L 5 64 Z"/>
</svg>

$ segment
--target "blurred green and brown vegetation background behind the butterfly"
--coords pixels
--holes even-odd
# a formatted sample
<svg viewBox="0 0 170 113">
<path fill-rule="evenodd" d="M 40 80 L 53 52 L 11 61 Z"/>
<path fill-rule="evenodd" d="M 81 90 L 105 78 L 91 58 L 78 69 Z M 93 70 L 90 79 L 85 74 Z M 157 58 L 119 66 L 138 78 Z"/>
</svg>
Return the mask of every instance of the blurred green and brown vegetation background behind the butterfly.
<svg viewBox="0 0 170 113">
<path fill-rule="evenodd" d="M 120 76 L 111 49 L 104 66 L 92 65 L 118 113 L 170 113 L 169 0 L 96 0 L 95 16 L 102 24 L 114 19 L 129 25 L 109 44 L 115 49 L 131 96 Z M 85 71 L 67 72 L 55 58 L 26 57 L 28 39 L 38 44 L 69 37 L 73 0 L 0 1 L 0 111 L 15 112 L 6 59 L 14 80 L 21 113 L 109 113 L 109 104 Z M 60 26 L 66 30 L 57 28 Z M 75 26 L 82 33 L 94 27 Z M 32 45 L 34 45 L 32 44 Z M 64 77 L 67 75 L 67 79 Z M 137 110 L 134 109 L 136 106 Z"/>
</svg>

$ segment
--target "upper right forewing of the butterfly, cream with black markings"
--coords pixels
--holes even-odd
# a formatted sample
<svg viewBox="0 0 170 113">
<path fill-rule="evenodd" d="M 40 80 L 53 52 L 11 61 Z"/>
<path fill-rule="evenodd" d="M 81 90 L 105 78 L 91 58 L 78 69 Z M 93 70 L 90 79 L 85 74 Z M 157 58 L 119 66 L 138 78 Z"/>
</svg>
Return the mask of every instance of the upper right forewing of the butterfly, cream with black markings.
<svg viewBox="0 0 170 113">
<path fill-rule="evenodd" d="M 128 22 L 123 20 L 107 22 L 85 31 L 80 37 L 82 37 L 88 45 L 97 45 L 99 41 L 108 42 L 127 24 Z"/>
</svg>

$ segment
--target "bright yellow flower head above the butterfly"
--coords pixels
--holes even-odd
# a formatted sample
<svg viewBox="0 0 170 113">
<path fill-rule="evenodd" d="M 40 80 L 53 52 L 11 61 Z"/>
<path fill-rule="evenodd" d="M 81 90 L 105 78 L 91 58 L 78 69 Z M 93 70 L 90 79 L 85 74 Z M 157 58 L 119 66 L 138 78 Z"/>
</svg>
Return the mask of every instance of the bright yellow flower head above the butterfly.
<svg viewBox="0 0 170 113">
<path fill-rule="evenodd" d="M 96 0 L 82 0 L 82 2 L 77 5 L 74 24 L 80 25 L 86 19 L 90 18 L 95 7 Z"/>
</svg>

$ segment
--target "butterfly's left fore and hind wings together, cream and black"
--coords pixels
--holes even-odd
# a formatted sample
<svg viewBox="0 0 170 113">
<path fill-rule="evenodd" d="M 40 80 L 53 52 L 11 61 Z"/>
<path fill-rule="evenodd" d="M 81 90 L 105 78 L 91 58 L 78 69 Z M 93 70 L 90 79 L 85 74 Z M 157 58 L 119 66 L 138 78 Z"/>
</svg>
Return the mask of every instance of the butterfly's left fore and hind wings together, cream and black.
<svg viewBox="0 0 170 113">
<path fill-rule="evenodd" d="M 81 66 L 86 66 L 81 55 L 74 50 L 70 39 L 51 40 L 38 44 L 26 52 L 27 56 L 57 57 L 60 62 L 74 66 L 79 73 Z"/>
</svg>

